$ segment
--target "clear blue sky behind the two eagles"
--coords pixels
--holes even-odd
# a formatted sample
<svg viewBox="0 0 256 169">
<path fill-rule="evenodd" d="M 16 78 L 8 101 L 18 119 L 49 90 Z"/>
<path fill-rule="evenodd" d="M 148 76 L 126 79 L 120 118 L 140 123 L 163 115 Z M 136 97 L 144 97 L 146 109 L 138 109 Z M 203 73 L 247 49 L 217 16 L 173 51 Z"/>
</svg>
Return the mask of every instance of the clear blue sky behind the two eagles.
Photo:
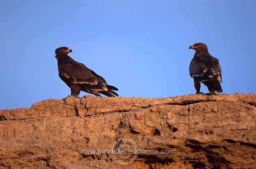
<svg viewBox="0 0 256 169">
<path fill-rule="evenodd" d="M 256 93 L 256 0 L 0 0 L 0 23 L 0 109 L 70 95 L 61 46 L 120 96 L 160 98 L 196 92 L 188 47 L 203 42 L 224 93 Z"/>
</svg>

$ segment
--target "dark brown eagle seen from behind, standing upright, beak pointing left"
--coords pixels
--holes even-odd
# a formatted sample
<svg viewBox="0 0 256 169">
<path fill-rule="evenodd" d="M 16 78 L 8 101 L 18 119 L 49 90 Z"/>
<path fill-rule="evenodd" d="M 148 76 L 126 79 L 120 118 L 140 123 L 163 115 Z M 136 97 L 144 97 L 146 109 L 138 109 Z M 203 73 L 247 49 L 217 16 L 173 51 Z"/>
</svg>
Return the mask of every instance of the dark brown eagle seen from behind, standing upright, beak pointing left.
<svg viewBox="0 0 256 169">
<path fill-rule="evenodd" d="M 208 52 L 208 47 L 204 43 L 195 43 L 189 49 L 196 51 L 194 58 L 189 65 L 190 77 L 194 79 L 196 94 L 200 94 L 200 83 L 207 86 L 210 93 L 223 92 L 220 83 L 222 83 L 222 71 L 219 60 Z"/>
</svg>

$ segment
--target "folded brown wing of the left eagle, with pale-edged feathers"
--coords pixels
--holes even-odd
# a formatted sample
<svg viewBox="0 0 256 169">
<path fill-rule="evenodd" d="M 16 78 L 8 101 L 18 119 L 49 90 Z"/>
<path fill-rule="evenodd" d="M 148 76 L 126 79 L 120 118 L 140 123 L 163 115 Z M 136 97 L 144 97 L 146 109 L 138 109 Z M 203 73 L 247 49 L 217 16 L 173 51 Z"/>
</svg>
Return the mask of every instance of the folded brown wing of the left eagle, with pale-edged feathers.
<svg viewBox="0 0 256 169">
<path fill-rule="evenodd" d="M 60 78 L 67 85 L 68 83 L 72 83 L 86 86 L 90 90 L 108 91 L 105 79 L 82 63 L 73 61 L 65 65 L 60 65 L 58 69 Z"/>
</svg>

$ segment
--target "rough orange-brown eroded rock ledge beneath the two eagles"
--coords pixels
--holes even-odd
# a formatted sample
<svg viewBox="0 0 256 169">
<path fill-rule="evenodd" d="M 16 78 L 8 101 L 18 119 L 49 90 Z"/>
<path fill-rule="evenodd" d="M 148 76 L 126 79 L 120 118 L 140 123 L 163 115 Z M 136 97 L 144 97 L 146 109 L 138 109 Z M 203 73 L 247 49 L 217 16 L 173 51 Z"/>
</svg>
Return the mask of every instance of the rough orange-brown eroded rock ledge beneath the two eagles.
<svg viewBox="0 0 256 169">
<path fill-rule="evenodd" d="M 256 168 L 256 94 L 48 99 L 0 110 L 0 168 Z"/>
</svg>

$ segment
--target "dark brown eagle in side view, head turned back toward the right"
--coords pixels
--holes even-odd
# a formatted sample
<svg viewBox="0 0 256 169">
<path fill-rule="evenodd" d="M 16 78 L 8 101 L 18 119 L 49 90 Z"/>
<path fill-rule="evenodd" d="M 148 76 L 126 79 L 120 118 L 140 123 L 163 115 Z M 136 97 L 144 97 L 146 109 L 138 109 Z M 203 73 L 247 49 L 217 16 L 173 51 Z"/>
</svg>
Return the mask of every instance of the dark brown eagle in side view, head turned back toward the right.
<svg viewBox="0 0 256 169">
<path fill-rule="evenodd" d="M 78 96 L 80 91 L 108 97 L 118 96 L 113 90 L 118 90 L 115 86 L 108 85 L 106 80 L 97 75 L 94 71 L 68 56 L 72 49 L 59 47 L 55 50 L 55 57 L 58 61 L 59 77 L 71 89 L 71 96 Z"/>
</svg>

